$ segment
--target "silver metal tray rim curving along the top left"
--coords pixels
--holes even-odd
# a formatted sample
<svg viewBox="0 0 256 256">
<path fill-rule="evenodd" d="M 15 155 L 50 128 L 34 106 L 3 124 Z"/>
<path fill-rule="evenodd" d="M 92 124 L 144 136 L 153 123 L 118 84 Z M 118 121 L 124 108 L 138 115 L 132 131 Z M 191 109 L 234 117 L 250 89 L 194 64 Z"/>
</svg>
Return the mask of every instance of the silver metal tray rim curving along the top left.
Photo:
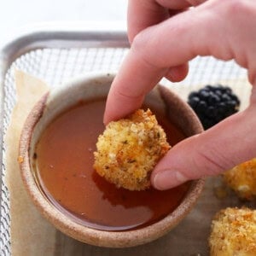
<svg viewBox="0 0 256 256">
<path fill-rule="evenodd" d="M 84 47 L 88 41 L 118 42 L 120 46 L 129 47 L 123 21 L 44 22 L 23 26 L 16 29 L 14 34 L 0 44 L 2 69 L 14 57 L 24 54 L 28 47 Z M 55 44 L 56 41 L 67 41 L 67 44 Z"/>
</svg>

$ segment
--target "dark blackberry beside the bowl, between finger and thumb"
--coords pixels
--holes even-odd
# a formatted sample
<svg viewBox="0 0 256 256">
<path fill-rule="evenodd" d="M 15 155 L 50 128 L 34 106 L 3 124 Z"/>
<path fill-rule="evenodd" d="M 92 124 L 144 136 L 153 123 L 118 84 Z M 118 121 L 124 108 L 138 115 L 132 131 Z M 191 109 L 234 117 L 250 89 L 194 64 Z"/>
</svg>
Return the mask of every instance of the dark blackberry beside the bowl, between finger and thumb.
<svg viewBox="0 0 256 256">
<path fill-rule="evenodd" d="M 240 100 L 230 87 L 221 84 L 206 85 L 201 90 L 191 92 L 188 103 L 205 130 L 238 112 L 240 107 Z"/>
</svg>

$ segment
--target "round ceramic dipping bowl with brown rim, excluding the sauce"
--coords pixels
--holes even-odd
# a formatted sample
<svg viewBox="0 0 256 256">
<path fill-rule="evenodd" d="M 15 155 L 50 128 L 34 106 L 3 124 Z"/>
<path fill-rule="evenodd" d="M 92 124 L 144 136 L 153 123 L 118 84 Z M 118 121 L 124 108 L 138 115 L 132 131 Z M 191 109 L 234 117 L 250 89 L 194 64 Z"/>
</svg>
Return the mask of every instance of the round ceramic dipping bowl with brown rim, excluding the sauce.
<svg viewBox="0 0 256 256">
<path fill-rule="evenodd" d="M 148 224 L 135 230 L 97 230 L 79 224 L 49 201 L 38 184 L 33 164 L 36 145 L 47 125 L 77 102 L 86 102 L 99 97 L 107 98 L 113 78 L 114 75 L 109 73 L 86 74 L 84 77 L 73 79 L 63 84 L 60 89 L 51 90 L 42 96 L 28 115 L 21 133 L 19 154 L 23 161 L 20 163 L 20 172 L 32 202 L 56 229 L 76 240 L 95 246 L 133 247 L 154 241 L 179 224 L 195 206 L 195 202 L 201 195 L 204 180 L 191 181 L 189 190 L 176 209 L 154 224 Z M 152 105 L 155 112 L 166 113 L 168 119 L 183 131 L 185 137 L 203 131 L 199 119 L 189 105 L 166 87 L 158 84 L 154 90 L 148 93 L 145 102 Z"/>
</svg>

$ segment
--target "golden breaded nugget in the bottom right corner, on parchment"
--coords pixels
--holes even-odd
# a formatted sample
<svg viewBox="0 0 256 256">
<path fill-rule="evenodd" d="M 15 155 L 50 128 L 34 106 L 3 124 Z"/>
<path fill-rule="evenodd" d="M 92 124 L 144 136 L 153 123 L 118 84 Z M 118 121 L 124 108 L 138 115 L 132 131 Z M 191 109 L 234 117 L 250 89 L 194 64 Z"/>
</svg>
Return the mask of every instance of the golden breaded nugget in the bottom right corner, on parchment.
<svg viewBox="0 0 256 256">
<path fill-rule="evenodd" d="M 256 211 L 229 207 L 218 212 L 209 246 L 212 256 L 256 255 Z"/>
</svg>

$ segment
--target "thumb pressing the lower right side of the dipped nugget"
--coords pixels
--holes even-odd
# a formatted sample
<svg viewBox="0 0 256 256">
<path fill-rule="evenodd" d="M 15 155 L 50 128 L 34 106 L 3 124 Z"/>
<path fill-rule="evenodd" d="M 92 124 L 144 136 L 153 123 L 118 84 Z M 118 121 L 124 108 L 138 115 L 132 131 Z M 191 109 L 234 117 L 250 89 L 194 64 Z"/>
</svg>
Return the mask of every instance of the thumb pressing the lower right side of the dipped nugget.
<svg viewBox="0 0 256 256">
<path fill-rule="evenodd" d="M 255 157 L 255 106 L 174 146 L 155 166 L 151 183 L 171 189 L 190 179 L 217 175 Z"/>
</svg>

